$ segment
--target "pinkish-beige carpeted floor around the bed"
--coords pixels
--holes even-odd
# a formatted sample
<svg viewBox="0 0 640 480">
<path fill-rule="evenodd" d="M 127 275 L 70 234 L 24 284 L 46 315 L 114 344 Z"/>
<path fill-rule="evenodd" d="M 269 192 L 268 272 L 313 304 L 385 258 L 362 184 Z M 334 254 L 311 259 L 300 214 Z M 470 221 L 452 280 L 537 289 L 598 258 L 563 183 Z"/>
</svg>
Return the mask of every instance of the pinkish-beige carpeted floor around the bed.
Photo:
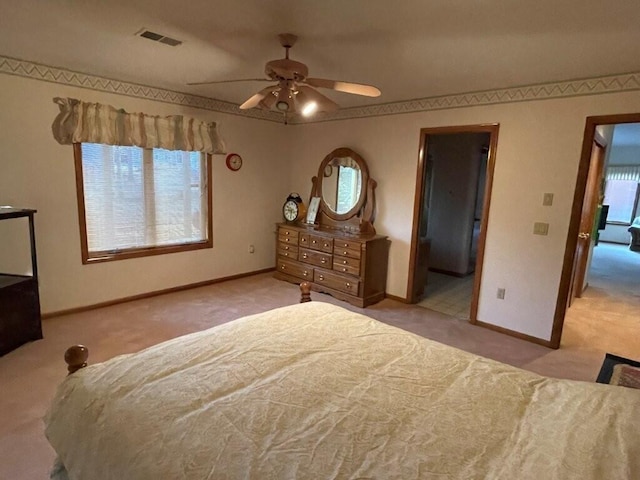
<svg viewBox="0 0 640 480">
<path fill-rule="evenodd" d="M 594 381 L 605 352 L 640 356 L 637 293 L 635 297 L 623 295 L 607 303 L 599 288 L 594 282 L 585 298 L 570 309 L 560 350 L 467 322 L 451 321 L 441 313 L 393 300 L 383 300 L 363 310 L 328 295 L 313 293 L 312 298 L 537 373 Z M 42 416 L 56 385 L 65 376 L 62 355 L 69 345 L 84 343 L 91 351 L 90 362 L 96 363 L 244 315 L 295 303 L 298 298 L 297 286 L 262 274 L 45 320 L 44 340 L 0 358 L 0 479 L 47 478 L 54 452 L 44 438 Z M 605 327 L 608 335 L 591 334 Z M 606 341 L 602 341 L 603 337 Z M 600 343 L 593 344 L 594 340 Z"/>
</svg>

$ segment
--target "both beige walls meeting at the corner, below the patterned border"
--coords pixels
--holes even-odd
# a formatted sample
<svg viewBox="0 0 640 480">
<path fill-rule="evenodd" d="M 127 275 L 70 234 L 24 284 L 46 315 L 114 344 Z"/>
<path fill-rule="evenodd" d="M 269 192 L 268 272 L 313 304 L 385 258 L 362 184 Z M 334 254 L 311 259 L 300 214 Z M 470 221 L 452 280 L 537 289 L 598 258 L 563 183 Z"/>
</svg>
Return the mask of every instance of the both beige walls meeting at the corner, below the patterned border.
<svg viewBox="0 0 640 480">
<path fill-rule="evenodd" d="M 273 267 L 282 202 L 290 191 L 307 200 L 321 160 L 339 146 L 360 153 L 378 181 L 376 228 L 391 239 L 387 292 L 406 297 L 420 128 L 499 123 L 478 319 L 542 339 L 551 334 L 585 118 L 640 111 L 630 92 L 283 126 L 9 75 L 0 75 L 0 92 L 0 204 L 38 209 L 45 312 Z M 214 156 L 214 248 L 83 266 L 71 147 L 50 131 L 54 96 L 218 121 L 245 165 L 232 173 Z M 545 192 L 552 207 L 542 206 Z M 532 234 L 536 221 L 549 223 L 548 236 Z"/>
</svg>

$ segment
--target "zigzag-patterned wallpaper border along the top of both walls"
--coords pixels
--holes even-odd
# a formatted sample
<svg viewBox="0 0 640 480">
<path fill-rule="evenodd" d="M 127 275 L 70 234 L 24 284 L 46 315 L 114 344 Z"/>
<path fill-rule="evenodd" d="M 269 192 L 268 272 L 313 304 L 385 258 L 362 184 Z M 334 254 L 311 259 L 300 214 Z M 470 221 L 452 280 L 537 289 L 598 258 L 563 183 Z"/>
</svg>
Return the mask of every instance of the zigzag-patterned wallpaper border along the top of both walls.
<svg viewBox="0 0 640 480">
<path fill-rule="evenodd" d="M 145 98 L 165 103 L 202 108 L 221 113 L 230 113 L 244 117 L 257 118 L 272 122 L 282 122 L 277 112 L 259 109 L 240 110 L 238 105 L 214 98 L 191 95 L 163 88 L 124 82 L 96 75 L 74 72 L 58 67 L 19 60 L 0 55 L 0 73 L 17 75 L 63 85 L 88 88 L 102 92 L 117 93 L 131 97 Z M 538 85 L 526 85 L 497 90 L 461 93 L 427 97 L 403 102 L 351 107 L 323 114 L 313 119 L 293 119 L 289 123 L 317 123 L 352 118 L 399 115 L 431 110 L 495 105 L 500 103 L 527 102 L 552 98 L 600 95 L 624 91 L 640 90 L 640 72 L 609 75 L 597 78 L 552 82 Z"/>
</svg>

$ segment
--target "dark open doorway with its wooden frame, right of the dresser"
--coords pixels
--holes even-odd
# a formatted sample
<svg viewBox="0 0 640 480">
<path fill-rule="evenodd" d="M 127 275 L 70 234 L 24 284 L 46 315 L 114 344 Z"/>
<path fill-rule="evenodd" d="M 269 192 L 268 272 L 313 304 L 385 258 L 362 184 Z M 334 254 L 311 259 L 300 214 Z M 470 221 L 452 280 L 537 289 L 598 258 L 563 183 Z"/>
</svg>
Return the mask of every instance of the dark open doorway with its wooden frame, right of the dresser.
<svg viewBox="0 0 640 480">
<path fill-rule="evenodd" d="M 463 318 L 454 312 L 466 310 L 471 323 L 477 320 L 497 137 L 497 124 L 420 131 L 409 301 L 438 309 L 429 295 L 446 295 L 441 311 Z"/>
</svg>

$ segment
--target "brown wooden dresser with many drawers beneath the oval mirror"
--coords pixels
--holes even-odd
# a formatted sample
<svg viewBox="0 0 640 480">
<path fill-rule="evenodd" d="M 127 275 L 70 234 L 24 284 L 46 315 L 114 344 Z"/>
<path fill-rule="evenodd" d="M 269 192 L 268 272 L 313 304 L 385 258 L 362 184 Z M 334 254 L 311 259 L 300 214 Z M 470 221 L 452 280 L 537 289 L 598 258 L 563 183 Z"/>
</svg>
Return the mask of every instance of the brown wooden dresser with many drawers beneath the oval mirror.
<svg viewBox="0 0 640 480">
<path fill-rule="evenodd" d="M 384 298 L 388 252 L 382 235 L 280 223 L 274 276 L 366 307 Z"/>
</svg>

